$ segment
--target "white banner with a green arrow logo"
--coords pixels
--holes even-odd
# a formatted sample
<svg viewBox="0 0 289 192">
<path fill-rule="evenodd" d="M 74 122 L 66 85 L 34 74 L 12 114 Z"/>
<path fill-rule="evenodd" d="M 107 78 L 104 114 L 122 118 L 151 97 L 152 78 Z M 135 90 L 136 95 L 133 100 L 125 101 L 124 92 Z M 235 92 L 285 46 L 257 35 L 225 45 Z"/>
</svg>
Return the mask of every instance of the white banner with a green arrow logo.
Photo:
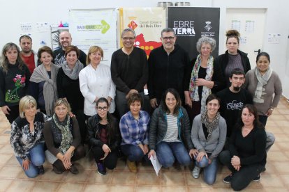
<svg viewBox="0 0 289 192">
<path fill-rule="evenodd" d="M 117 50 L 117 10 L 69 10 L 69 31 L 72 44 L 87 54 L 89 47 L 103 49 L 102 63 L 110 66 L 112 53 Z"/>
</svg>

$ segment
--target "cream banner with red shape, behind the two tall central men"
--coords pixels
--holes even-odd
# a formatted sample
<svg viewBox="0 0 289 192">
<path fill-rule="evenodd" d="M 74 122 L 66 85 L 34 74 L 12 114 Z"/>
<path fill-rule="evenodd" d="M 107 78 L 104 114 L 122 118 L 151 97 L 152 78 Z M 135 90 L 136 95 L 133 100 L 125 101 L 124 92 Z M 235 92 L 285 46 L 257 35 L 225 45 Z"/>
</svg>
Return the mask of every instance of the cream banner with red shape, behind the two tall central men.
<svg viewBox="0 0 289 192">
<path fill-rule="evenodd" d="M 135 31 L 135 46 L 149 56 L 152 49 L 161 46 L 161 30 L 166 27 L 165 8 L 120 8 L 119 25 L 120 34 L 126 28 Z M 121 40 L 119 45 L 122 47 Z"/>
</svg>

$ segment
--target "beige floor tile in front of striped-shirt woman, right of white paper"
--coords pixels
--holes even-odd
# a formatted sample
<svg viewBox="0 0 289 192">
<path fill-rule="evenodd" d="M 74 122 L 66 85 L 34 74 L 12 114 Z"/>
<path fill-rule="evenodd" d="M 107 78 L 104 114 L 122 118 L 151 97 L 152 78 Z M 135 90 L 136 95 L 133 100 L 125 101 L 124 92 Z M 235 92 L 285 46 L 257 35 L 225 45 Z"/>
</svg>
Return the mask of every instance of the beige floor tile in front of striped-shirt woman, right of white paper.
<svg viewBox="0 0 289 192">
<path fill-rule="evenodd" d="M 186 184 L 184 173 L 161 173 L 161 184 L 163 186 L 184 186 Z"/>
</svg>

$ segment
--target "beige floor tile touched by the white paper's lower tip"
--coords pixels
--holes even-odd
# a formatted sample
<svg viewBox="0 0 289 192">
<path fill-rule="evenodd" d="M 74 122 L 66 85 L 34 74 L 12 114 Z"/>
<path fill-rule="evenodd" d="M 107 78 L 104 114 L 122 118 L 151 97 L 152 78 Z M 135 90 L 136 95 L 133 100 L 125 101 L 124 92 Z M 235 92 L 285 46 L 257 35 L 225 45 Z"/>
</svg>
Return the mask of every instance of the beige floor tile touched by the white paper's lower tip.
<svg viewBox="0 0 289 192">
<path fill-rule="evenodd" d="M 155 172 L 139 172 L 136 179 L 138 185 L 159 185 L 161 175 L 156 176 Z"/>
</svg>

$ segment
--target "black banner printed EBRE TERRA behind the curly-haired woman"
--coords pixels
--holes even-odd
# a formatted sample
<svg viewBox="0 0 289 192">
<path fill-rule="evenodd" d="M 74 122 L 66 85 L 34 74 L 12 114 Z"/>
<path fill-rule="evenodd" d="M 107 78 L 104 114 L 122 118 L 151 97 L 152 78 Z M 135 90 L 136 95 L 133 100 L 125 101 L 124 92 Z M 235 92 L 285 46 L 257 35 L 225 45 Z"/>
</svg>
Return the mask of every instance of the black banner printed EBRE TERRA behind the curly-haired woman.
<svg viewBox="0 0 289 192">
<path fill-rule="evenodd" d="M 191 59 L 198 56 L 196 43 L 202 36 L 216 40 L 212 55 L 218 56 L 220 8 L 168 7 L 168 27 L 175 30 L 177 44 L 188 51 Z"/>
</svg>

